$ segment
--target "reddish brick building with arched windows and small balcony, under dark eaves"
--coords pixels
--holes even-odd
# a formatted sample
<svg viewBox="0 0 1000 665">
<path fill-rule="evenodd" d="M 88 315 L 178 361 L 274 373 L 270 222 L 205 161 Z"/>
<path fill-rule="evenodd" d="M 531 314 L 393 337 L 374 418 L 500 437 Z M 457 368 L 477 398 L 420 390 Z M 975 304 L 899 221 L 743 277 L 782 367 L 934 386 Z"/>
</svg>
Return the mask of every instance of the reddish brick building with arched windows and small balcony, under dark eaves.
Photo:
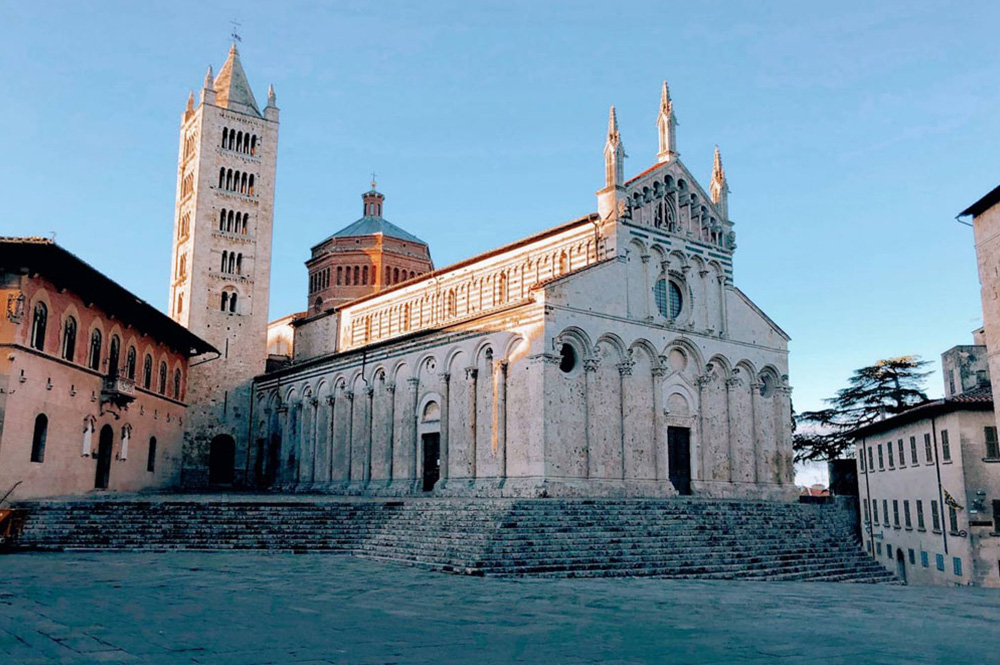
<svg viewBox="0 0 1000 665">
<path fill-rule="evenodd" d="M 44 238 L 0 238 L 0 494 L 176 486 L 215 349 Z"/>
</svg>

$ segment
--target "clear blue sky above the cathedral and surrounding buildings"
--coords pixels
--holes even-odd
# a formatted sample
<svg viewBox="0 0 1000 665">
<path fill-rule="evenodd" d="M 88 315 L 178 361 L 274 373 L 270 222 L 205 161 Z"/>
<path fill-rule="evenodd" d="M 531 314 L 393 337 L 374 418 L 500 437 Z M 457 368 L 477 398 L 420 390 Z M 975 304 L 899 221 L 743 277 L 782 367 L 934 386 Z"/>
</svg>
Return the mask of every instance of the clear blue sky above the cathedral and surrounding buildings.
<svg viewBox="0 0 1000 665">
<path fill-rule="evenodd" d="M 954 217 L 1000 181 L 1000 5 L 814 4 L 0 0 L 0 233 L 55 231 L 165 308 L 179 114 L 234 18 L 282 113 L 272 317 L 305 307 L 309 247 L 373 169 L 439 266 L 594 210 L 608 106 L 638 173 L 666 78 L 703 182 L 722 148 L 736 284 L 816 408 L 980 325 Z"/>
</svg>

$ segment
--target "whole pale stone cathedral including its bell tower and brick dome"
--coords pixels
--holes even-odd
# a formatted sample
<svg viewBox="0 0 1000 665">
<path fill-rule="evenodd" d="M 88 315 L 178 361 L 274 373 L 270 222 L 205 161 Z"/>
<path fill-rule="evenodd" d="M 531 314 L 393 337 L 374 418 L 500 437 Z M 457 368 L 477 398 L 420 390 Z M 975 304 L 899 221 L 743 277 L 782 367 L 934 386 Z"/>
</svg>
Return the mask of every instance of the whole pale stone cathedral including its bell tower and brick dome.
<svg viewBox="0 0 1000 665">
<path fill-rule="evenodd" d="M 373 181 L 268 363 L 278 117 L 235 46 L 182 115 L 170 314 L 218 349 L 189 371 L 185 485 L 795 496 L 789 338 L 734 283 L 721 158 L 706 191 L 666 84 L 655 164 L 626 180 L 612 107 L 596 212 L 450 266 Z"/>
</svg>

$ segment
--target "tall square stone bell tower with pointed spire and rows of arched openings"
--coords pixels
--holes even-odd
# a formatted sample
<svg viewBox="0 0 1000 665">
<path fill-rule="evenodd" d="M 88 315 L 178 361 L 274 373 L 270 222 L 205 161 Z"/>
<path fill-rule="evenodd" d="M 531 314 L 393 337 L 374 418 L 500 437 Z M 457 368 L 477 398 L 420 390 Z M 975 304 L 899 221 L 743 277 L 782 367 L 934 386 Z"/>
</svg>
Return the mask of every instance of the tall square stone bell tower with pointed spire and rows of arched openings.
<svg viewBox="0 0 1000 665">
<path fill-rule="evenodd" d="M 182 483 L 245 481 L 250 386 L 267 357 L 278 153 L 273 87 L 257 106 L 234 43 L 181 114 L 170 316 L 219 350 L 191 367 Z"/>
</svg>

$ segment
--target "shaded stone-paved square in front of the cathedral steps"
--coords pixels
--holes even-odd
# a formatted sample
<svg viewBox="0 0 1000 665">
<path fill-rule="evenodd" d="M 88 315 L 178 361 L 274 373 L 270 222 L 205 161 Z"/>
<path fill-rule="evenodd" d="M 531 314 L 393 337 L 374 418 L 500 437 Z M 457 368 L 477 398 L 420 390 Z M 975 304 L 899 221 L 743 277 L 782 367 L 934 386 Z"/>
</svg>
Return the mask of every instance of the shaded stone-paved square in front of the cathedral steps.
<svg viewBox="0 0 1000 665">
<path fill-rule="evenodd" d="M 333 555 L 0 557 L 0 663 L 997 662 L 1000 592 L 459 577 Z"/>
</svg>

